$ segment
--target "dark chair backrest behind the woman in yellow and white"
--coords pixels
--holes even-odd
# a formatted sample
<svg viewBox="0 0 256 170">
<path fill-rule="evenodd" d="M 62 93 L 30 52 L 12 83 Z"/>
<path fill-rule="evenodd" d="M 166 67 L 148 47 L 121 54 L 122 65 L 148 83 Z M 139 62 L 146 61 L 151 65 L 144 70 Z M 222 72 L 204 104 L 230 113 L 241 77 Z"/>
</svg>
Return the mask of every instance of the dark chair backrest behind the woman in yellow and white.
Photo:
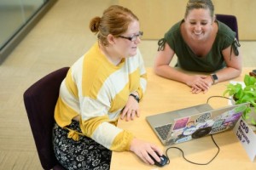
<svg viewBox="0 0 256 170">
<path fill-rule="evenodd" d="M 38 156 L 44 169 L 63 169 L 55 159 L 52 128 L 55 122 L 55 104 L 59 97 L 61 82 L 66 77 L 68 69 L 69 67 L 63 67 L 49 73 L 27 88 L 23 94 Z"/>
</svg>

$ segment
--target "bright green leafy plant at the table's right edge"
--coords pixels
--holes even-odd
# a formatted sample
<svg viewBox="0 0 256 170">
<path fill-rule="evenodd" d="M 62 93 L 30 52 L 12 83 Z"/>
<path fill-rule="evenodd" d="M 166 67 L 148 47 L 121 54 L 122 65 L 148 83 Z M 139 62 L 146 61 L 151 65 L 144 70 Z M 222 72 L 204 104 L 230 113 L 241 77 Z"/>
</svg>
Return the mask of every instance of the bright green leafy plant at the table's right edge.
<svg viewBox="0 0 256 170">
<path fill-rule="evenodd" d="M 244 86 L 241 83 L 228 84 L 224 95 L 229 94 L 235 104 L 249 103 L 250 106 L 247 107 L 242 118 L 256 127 L 256 77 L 245 75 L 243 82 Z"/>
</svg>

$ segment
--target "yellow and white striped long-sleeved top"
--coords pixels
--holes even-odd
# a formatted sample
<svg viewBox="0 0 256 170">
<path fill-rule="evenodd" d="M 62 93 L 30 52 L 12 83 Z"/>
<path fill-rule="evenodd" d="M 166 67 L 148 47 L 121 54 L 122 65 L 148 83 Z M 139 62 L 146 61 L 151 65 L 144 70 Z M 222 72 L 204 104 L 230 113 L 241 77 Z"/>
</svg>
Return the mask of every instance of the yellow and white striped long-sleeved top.
<svg viewBox="0 0 256 170">
<path fill-rule="evenodd" d="M 134 137 L 116 123 L 129 94 L 137 91 L 142 99 L 146 85 L 147 73 L 138 49 L 136 56 L 113 65 L 96 42 L 72 65 L 61 83 L 55 121 L 66 127 L 73 117 L 80 116 L 84 135 L 109 150 L 129 150 Z"/>
</svg>

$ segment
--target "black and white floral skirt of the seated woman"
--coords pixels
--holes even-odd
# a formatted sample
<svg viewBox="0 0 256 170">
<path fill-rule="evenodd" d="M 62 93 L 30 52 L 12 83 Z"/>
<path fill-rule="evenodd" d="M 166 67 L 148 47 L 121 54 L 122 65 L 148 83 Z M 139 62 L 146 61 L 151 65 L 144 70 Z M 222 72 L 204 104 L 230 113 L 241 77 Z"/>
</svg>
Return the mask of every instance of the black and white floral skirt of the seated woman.
<svg viewBox="0 0 256 170">
<path fill-rule="evenodd" d="M 70 129 L 81 132 L 79 122 L 73 121 Z M 69 131 L 57 124 L 53 129 L 53 146 L 56 159 L 70 170 L 109 169 L 112 151 L 93 139 L 79 135 L 79 141 L 67 138 Z"/>
</svg>

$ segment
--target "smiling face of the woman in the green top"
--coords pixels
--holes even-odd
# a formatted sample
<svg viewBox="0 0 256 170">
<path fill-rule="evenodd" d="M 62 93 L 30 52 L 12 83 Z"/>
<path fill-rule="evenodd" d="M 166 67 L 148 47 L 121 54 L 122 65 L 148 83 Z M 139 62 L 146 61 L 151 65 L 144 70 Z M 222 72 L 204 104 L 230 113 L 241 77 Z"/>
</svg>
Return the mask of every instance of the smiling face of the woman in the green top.
<svg viewBox="0 0 256 170">
<path fill-rule="evenodd" d="M 185 17 L 186 34 L 195 41 L 204 41 L 212 33 L 212 22 L 209 8 L 191 9 Z"/>
</svg>

